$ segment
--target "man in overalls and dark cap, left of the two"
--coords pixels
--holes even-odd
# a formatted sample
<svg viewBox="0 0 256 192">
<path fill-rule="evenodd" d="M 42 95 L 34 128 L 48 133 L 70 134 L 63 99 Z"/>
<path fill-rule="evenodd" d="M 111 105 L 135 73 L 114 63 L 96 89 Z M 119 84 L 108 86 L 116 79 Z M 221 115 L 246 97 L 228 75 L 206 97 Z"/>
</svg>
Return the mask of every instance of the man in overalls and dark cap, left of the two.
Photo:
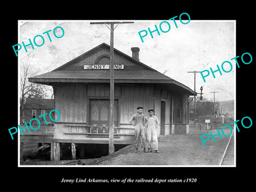
<svg viewBox="0 0 256 192">
<path fill-rule="evenodd" d="M 146 135 L 145 135 L 145 118 L 142 114 L 143 107 L 137 108 L 137 114 L 132 115 L 130 118 L 130 123 L 134 126 L 135 129 L 135 152 L 138 152 L 138 143 L 140 138 L 141 147 L 144 148 L 144 152 L 146 151 Z"/>
</svg>

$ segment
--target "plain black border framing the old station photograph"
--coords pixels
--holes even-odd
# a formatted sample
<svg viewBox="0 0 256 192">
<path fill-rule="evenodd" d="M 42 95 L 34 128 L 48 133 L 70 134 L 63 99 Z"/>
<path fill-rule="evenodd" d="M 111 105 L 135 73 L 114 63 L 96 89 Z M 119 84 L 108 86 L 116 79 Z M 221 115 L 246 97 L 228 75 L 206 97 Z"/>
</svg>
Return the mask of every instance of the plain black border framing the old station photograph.
<svg viewBox="0 0 256 192">
<path fill-rule="evenodd" d="M 107 2 L 106 2 L 107 3 Z M 100 3 L 99 3 L 100 4 Z M 113 4 L 113 5 L 112 5 Z M 31 4 L 32 5 L 32 4 Z M 42 183 L 47 183 L 45 190 L 52 190 L 55 187 L 72 187 L 71 184 L 60 183 L 62 178 L 95 178 L 95 179 L 166 179 L 166 178 L 197 178 L 196 183 L 162 183 L 162 184 L 129 184 L 135 187 L 197 187 L 197 189 L 208 190 L 214 188 L 216 190 L 223 188 L 233 188 L 235 186 L 246 185 L 252 186 L 254 172 L 250 171 L 254 163 L 253 143 L 255 133 L 255 114 L 252 109 L 255 106 L 253 102 L 253 88 L 255 80 L 253 72 L 255 69 L 255 30 L 253 15 L 253 3 L 239 2 L 225 6 L 217 2 L 204 2 L 204 4 L 187 4 L 182 2 L 180 5 L 174 5 L 172 2 L 125 2 L 110 3 L 112 9 L 107 9 L 107 6 L 102 5 L 101 10 L 97 5 L 86 3 L 73 3 L 72 5 L 64 5 L 63 2 L 54 7 L 51 3 L 46 6 L 45 10 L 35 11 L 36 7 L 26 4 L 18 7 L 18 10 L 10 10 L 11 17 L 6 18 L 2 23 L 5 29 L 2 29 L 2 38 L 4 38 L 5 46 L 2 49 L 3 63 L 2 66 L 2 109 L 4 109 L 4 122 L 2 127 L 2 142 L 3 164 L 7 169 L 4 171 L 5 177 L 3 183 L 17 184 L 17 187 L 22 186 L 41 186 Z M 83 6 L 82 6 L 83 5 Z M 43 5 L 42 5 L 43 6 Z M 94 8 L 92 12 L 90 10 Z M 42 8 L 42 7 L 41 7 Z M 37 8 L 38 9 L 38 8 Z M 34 10 L 34 11 L 33 11 Z M 97 11 L 96 11 L 97 10 Z M 13 54 L 12 45 L 18 42 L 18 20 L 100 20 L 100 19 L 129 19 L 129 20 L 166 20 L 187 12 L 191 20 L 236 20 L 236 55 L 241 55 L 249 52 L 252 55 L 253 61 L 250 65 L 241 64 L 241 67 L 236 68 L 236 119 L 242 119 L 244 116 L 251 117 L 253 121 L 250 129 L 244 129 L 239 125 L 240 132 L 237 132 L 236 138 L 236 162 L 237 167 L 18 167 L 18 137 L 11 140 L 7 129 L 17 126 L 18 122 L 18 60 Z M 15 14 L 17 13 L 17 14 Z M 7 29 L 7 30 L 6 30 Z M 7 54 L 6 54 L 7 53 Z M 242 63 L 241 60 L 239 63 Z M 16 67 L 17 66 L 17 67 Z M 8 75 L 5 75 L 8 74 Z M 217 80 L 216 80 L 217 81 Z M 7 107 L 6 104 L 7 103 Z M 242 127 L 242 128 L 241 128 Z M 14 179 L 15 178 L 15 179 Z M 121 185 L 127 189 L 127 184 Z M 205 186 L 206 188 L 202 188 Z M 73 184 L 74 187 L 74 184 Z M 77 184 L 75 187 L 109 188 L 118 189 L 116 184 Z M 114 188 L 113 188 L 114 187 Z M 31 190 L 33 188 L 30 188 Z M 138 188 L 134 188 L 138 189 Z"/>
</svg>

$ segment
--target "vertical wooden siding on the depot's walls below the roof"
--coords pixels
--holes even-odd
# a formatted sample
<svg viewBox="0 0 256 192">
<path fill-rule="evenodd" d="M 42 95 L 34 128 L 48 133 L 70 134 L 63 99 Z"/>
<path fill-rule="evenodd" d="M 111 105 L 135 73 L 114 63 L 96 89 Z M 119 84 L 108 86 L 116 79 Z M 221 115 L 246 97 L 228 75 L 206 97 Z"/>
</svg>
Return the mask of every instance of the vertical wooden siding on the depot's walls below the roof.
<svg viewBox="0 0 256 192">
<path fill-rule="evenodd" d="M 90 111 L 87 107 L 90 99 L 109 99 L 109 84 L 62 83 L 54 87 L 55 109 L 61 114 L 59 121 L 55 123 L 56 129 L 58 129 L 54 133 L 55 139 L 75 139 L 78 137 L 78 135 L 65 134 L 67 127 L 61 124 L 80 123 L 87 125 L 89 121 L 86 118 L 90 117 Z M 163 115 L 161 114 L 161 101 L 165 103 L 164 135 L 173 133 L 173 109 L 177 107 L 182 109 L 182 122 L 177 122 L 177 124 L 186 124 L 187 122 L 187 94 L 173 93 L 161 86 L 152 84 L 115 84 L 115 99 L 118 100 L 119 127 L 131 127 L 129 119 L 137 113 L 138 106 L 143 107 L 145 116 L 148 115 L 149 109 L 154 109 L 159 123 L 163 123 L 161 122 L 161 115 Z M 179 103 L 178 100 L 180 100 Z M 178 127 L 177 129 L 179 129 Z M 157 134 L 160 135 L 160 129 L 157 130 Z M 122 139 L 131 139 L 131 137 L 126 136 L 123 136 Z M 81 135 L 78 138 L 82 139 L 82 137 L 84 136 Z"/>
</svg>

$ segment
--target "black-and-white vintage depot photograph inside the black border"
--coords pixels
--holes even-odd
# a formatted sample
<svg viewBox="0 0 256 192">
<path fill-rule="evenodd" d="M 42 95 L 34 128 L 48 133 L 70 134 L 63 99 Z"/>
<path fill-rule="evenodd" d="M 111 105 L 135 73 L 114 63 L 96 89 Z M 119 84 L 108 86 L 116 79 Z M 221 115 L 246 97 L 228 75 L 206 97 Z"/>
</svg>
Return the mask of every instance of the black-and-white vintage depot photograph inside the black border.
<svg viewBox="0 0 256 192">
<path fill-rule="evenodd" d="M 236 166 L 235 20 L 18 24 L 19 166 Z"/>
</svg>

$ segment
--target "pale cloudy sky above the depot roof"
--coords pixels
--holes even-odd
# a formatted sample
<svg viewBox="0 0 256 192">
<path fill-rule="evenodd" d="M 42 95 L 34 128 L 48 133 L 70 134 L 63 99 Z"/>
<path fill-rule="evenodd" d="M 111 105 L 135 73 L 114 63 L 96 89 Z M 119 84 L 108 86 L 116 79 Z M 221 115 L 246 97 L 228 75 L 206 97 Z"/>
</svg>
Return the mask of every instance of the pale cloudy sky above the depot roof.
<svg viewBox="0 0 256 192">
<path fill-rule="evenodd" d="M 99 20 L 97 20 L 99 21 Z M 121 21 L 121 20 L 118 20 Z M 127 20 L 126 20 L 127 21 Z M 196 92 L 200 93 L 200 87 L 203 86 L 203 97 L 215 101 L 233 100 L 235 97 L 235 61 L 231 58 L 235 55 L 235 21 L 233 20 L 214 20 L 214 21 L 197 21 L 182 20 L 188 22 L 183 25 L 179 20 L 178 28 L 173 21 L 170 23 L 171 29 L 163 33 L 159 25 L 163 20 L 131 20 L 134 23 L 115 25 L 114 30 L 114 48 L 132 56 L 131 47 L 139 47 L 140 62 L 156 69 L 178 81 L 191 90 L 194 90 L 194 73 L 188 71 L 217 70 L 217 65 L 221 68 L 224 61 L 230 61 L 233 64 L 233 70 L 222 75 L 216 72 L 215 78 L 212 74 L 205 78 L 200 73 L 196 74 Z M 64 65 L 66 62 L 78 57 L 79 55 L 93 49 L 101 43 L 110 45 L 109 25 L 90 25 L 92 20 L 72 21 L 36 21 L 20 20 L 19 21 L 19 42 L 22 44 L 29 43 L 29 38 L 33 42 L 36 35 L 44 37 L 42 46 L 27 46 L 27 51 L 22 49 L 19 54 L 20 63 L 30 62 L 31 68 L 37 75 L 52 71 Z M 160 35 L 157 32 L 152 33 L 151 38 L 148 28 L 153 31 L 157 26 Z M 60 26 L 65 31 L 61 38 L 53 35 L 53 29 Z M 169 26 L 162 23 L 162 30 L 167 31 Z M 49 41 L 45 31 L 51 30 L 49 35 L 52 42 Z M 143 38 L 143 43 L 139 36 L 139 31 L 147 30 L 148 35 Z M 61 36 L 62 31 L 56 30 L 57 36 Z M 144 33 L 142 33 L 143 35 Z M 40 37 L 36 38 L 37 44 L 42 44 Z M 14 53 L 15 54 L 15 53 Z M 225 70 L 230 66 L 223 65 Z M 20 70 L 22 73 L 22 70 Z"/>
</svg>

